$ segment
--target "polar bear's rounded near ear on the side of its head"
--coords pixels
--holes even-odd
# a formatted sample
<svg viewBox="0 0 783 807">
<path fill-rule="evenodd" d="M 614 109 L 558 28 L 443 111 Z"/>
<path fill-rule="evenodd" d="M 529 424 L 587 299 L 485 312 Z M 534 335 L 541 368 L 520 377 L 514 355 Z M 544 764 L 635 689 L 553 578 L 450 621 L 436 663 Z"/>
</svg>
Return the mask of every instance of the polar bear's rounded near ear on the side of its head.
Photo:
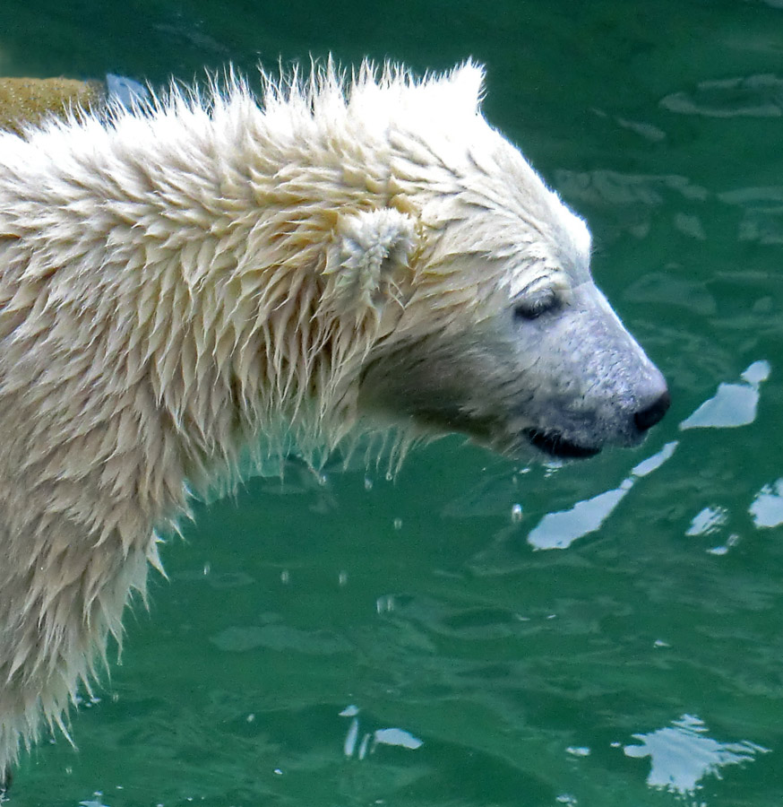
<svg viewBox="0 0 783 807">
<path fill-rule="evenodd" d="M 380 314 L 416 248 L 416 221 L 390 207 L 342 215 L 326 254 L 323 301 L 340 314 Z"/>
</svg>

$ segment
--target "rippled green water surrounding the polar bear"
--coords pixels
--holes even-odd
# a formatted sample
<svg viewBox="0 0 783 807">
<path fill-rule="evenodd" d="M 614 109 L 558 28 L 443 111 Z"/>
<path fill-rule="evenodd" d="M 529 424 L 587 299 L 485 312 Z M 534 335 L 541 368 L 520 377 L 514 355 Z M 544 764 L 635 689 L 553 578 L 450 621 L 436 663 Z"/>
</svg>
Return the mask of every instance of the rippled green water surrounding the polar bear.
<svg viewBox="0 0 783 807">
<path fill-rule="evenodd" d="M 783 803 L 783 3 L 0 5 L 3 74 L 329 50 L 486 62 L 672 411 L 585 464 L 448 438 L 200 508 L 11 804 Z"/>
</svg>

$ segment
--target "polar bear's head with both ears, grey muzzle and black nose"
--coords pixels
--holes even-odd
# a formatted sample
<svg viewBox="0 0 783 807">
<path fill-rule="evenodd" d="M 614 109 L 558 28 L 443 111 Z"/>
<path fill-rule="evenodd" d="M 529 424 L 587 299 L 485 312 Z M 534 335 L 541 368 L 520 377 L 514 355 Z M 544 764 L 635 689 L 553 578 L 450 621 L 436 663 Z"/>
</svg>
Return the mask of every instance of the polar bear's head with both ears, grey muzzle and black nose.
<svg viewBox="0 0 783 807">
<path fill-rule="evenodd" d="M 584 221 L 481 116 L 481 82 L 464 65 L 348 101 L 386 152 L 386 204 L 340 214 L 324 268 L 325 299 L 379 323 L 359 412 L 510 455 L 633 445 L 664 378 L 592 281 Z"/>
</svg>

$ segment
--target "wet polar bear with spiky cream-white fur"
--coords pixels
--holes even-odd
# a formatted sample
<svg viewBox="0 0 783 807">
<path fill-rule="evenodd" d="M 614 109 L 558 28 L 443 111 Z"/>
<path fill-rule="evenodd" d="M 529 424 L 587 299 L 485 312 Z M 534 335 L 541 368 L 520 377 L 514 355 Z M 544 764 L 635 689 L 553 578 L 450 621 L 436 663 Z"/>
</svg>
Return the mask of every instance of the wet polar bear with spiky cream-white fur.
<svg viewBox="0 0 783 807">
<path fill-rule="evenodd" d="M 0 135 L 0 773 L 243 452 L 590 456 L 666 412 L 482 82 L 326 65 Z"/>
</svg>

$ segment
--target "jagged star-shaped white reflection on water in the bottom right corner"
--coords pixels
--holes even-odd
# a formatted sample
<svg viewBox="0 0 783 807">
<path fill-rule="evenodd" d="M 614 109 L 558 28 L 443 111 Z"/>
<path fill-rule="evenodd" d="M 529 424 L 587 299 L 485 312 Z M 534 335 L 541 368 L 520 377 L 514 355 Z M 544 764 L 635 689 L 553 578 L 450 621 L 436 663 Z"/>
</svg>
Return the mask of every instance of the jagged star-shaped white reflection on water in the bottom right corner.
<svg viewBox="0 0 783 807">
<path fill-rule="evenodd" d="M 718 742 L 705 736 L 707 726 L 695 716 L 684 715 L 672 725 L 649 734 L 633 734 L 641 745 L 626 745 L 626 757 L 650 757 L 650 787 L 670 793 L 693 794 L 701 779 L 720 778 L 720 768 L 750 762 L 770 749 L 754 742 Z"/>
</svg>

